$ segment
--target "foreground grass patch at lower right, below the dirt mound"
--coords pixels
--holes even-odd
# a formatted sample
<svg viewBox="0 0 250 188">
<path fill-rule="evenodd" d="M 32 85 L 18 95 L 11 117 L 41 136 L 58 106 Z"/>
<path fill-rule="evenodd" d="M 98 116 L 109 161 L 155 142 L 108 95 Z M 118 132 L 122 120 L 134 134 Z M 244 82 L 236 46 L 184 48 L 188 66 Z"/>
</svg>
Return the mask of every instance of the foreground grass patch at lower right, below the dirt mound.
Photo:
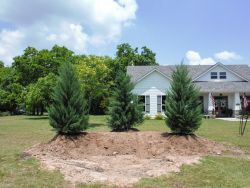
<svg viewBox="0 0 250 188">
<path fill-rule="evenodd" d="M 180 173 L 143 179 L 135 185 L 140 187 L 227 187 L 250 186 L 250 162 L 229 157 L 204 157 L 198 165 L 184 165 Z"/>
</svg>

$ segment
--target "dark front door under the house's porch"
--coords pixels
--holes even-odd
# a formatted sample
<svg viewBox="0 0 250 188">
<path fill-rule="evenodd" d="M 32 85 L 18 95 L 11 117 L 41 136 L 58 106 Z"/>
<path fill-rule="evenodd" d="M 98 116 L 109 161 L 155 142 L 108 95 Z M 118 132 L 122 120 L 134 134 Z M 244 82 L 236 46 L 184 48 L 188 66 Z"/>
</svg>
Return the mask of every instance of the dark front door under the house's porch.
<svg viewBox="0 0 250 188">
<path fill-rule="evenodd" d="M 215 114 L 217 117 L 228 116 L 228 97 L 227 96 L 215 96 Z"/>
</svg>

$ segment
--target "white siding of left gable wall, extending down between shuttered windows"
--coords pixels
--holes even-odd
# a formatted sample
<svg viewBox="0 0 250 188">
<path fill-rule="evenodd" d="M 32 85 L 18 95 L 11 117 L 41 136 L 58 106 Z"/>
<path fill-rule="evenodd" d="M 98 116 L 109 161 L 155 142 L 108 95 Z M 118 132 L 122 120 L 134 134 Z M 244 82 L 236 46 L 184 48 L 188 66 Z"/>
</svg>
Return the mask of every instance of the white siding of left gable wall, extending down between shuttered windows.
<svg viewBox="0 0 250 188">
<path fill-rule="evenodd" d="M 158 71 L 154 71 L 136 83 L 133 92 L 137 95 L 150 96 L 150 115 L 157 114 L 157 95 L 166 95 L 170 80 Z"/>
</svg>

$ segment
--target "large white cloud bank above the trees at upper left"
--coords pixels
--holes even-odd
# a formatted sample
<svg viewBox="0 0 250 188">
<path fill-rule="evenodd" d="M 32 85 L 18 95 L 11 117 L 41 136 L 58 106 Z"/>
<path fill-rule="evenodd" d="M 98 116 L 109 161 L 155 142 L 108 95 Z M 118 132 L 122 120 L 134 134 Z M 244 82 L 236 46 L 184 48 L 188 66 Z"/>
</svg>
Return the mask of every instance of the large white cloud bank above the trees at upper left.
<svg viewBox="0 0 250 188">
<path fill-rule="evenodd" d="M 0 59 L 8 64 L 10 57 L 27 45 L 49 48 L 57 43 L 84 53 L 91 46 L 116 41 L 122 29 L 136 18 L 137 11 L 136 0 L 1 0 L 0 7 L 1 21 L 16 28 L 6 28 L 0 38 L 6 38 L 6 33 L 19 35 L 16 41 L 10 35 L 8 42 L 0 40 L 1 49 L 8 49 Z M 17 47 L 12 46 L 16 43 Z"/>
</svg>

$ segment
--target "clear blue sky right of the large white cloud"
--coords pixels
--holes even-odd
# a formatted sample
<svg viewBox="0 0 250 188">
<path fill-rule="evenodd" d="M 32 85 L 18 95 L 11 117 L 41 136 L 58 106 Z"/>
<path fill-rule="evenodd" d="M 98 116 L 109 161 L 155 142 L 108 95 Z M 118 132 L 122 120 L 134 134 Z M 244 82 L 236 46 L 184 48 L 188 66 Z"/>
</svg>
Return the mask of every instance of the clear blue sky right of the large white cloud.
<svg viewBox="0 0 250 188">
<path fill-rule="evenodd" d="M 223 63 L 250 63 L 250 3 L 236 0 L 138 1 L 137 19 L 121 41 L 147 45 L 160 64 L 173 64 L 192 50 L 202 58 L 235 52 L 241 58 Z M 240 3 L 239 3 L 240 2 Z"/>
</svg>

